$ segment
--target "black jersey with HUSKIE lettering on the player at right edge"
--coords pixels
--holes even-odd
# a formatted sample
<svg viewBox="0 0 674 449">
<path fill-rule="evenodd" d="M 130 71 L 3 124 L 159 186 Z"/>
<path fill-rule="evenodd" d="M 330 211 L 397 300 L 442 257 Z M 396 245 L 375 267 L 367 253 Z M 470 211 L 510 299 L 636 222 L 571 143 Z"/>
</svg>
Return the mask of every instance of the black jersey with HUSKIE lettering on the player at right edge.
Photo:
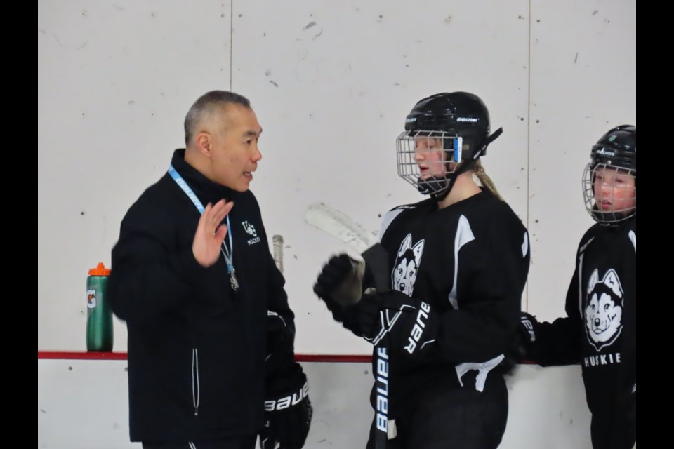
<svg viewBox="0 0 674 449">
<path fill-rule="evenodd" d="M 567 316 L 538 323 L 529 352 L 542 366 L 581 363 L 595 448 L 631 447 L 627 408 L 636 389 L 637 218 L 594 225 L 576 253 Z"/>
</svg>

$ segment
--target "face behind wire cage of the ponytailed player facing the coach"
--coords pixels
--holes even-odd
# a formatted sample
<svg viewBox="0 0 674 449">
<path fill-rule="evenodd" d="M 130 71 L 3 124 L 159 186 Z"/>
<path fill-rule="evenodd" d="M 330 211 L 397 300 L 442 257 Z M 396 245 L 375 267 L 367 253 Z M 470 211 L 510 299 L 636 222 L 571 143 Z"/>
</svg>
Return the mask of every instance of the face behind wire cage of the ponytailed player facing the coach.
<svg viewBox="0 0 674 449">
<path fill-rule="evenodd" d="M 442 189 L 461 161 L 462 139 L 443 131 L 405 131 L 395 142 L 398 175 L 417 188 Z"/>
</svg>

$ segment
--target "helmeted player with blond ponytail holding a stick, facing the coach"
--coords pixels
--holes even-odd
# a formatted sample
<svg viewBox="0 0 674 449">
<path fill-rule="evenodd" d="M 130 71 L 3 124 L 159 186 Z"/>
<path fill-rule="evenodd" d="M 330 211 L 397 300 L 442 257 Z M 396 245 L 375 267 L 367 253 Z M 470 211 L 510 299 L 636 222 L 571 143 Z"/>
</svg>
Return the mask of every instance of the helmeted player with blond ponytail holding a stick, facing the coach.
<svg viewBox="0 0 674 449">
<path fill-rule="evenodd" d="M 472 93 L 416 103 L 397 137 L 398 173 L 430 198 L 385 215 L 388 291 L 376 267 L 333 256 L 315 293 L 333 317 L 373 342 L 375 417 L 367 448 L 496 448 L 508 417 L 503 373 L 529 272 L 527 229 L 480 157 L 498 135 Z M 481 187 L 475 177 L 479 178 Z M 360 297 L 345 288 L 363 279 Z M 355 302 L 353 305 L 345 305 Z"/>
</svg>

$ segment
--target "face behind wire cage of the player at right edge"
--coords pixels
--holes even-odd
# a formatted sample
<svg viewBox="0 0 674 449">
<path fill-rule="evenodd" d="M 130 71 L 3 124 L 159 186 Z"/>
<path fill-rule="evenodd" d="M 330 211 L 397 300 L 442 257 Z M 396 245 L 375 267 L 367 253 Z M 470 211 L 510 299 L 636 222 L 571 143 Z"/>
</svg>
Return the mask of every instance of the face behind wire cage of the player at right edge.
<svg viewBox="0 0 674 449">
<path fill-rule="evenodd" d="M 583 172 L 583 196 L 590 215 L 612 224 L 626 220 L 637 208 L 637 176 L 634 170 L 588 163 Z"/>
</svg>

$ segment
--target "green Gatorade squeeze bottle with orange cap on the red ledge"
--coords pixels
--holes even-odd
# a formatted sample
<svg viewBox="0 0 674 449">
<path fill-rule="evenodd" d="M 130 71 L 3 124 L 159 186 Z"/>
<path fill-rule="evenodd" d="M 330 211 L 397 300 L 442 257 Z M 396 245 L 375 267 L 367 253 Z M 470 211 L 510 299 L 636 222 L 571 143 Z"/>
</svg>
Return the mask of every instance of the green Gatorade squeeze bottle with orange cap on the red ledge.
<svg viewBox="0 0 674 449">
<path fill-rule="evenodd" d="M 112 351 L 112 309 L 107 303 L 107 276 L 103 262 L 89 270 L 86 278 L 86 350 Z"/>
</svg>

